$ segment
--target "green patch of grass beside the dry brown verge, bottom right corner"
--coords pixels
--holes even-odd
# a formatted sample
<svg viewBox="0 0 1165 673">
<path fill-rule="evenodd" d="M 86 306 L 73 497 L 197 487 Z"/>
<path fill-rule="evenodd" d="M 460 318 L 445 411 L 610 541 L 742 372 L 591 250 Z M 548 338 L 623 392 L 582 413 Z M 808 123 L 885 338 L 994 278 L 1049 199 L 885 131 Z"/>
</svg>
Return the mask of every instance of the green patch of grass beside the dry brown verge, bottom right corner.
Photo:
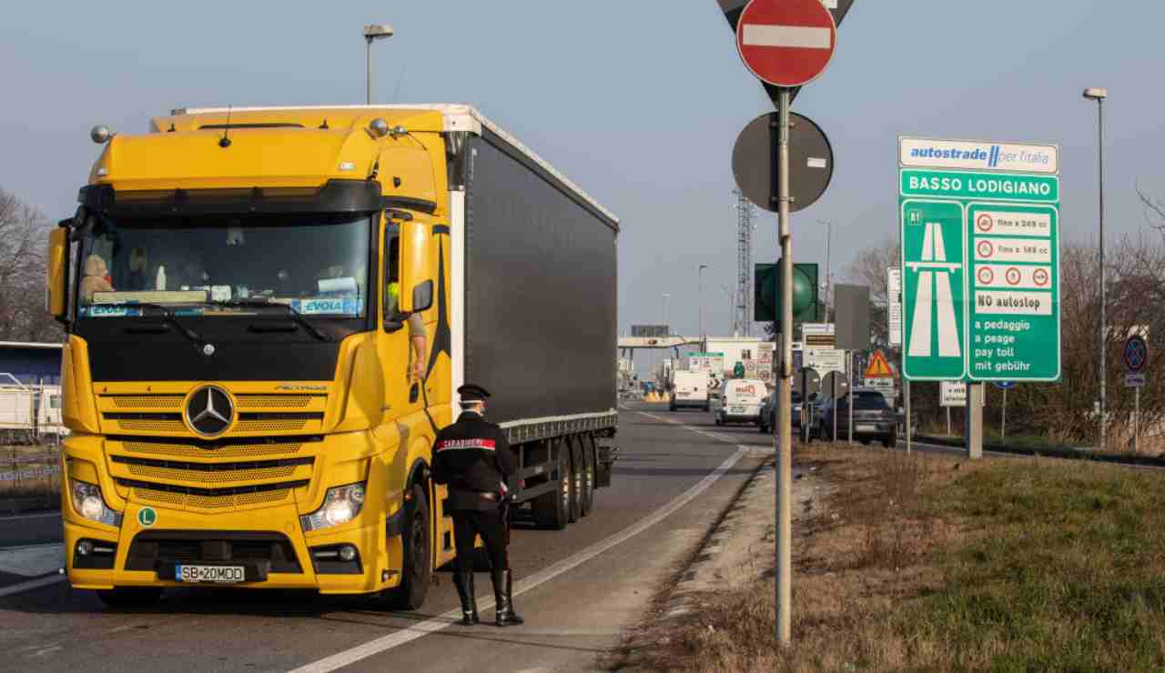
<svg viewBox="0 0 1165 673">
<path fill-rule="evenodd" d="M 946 644 L 923 668 L 1165 667 L 1159 473 L 998 461 L 919 504 L 962 519 L 972 539 L 935 550 L 942 587 L 895 619 L 906 643 Z"/>
</svg>

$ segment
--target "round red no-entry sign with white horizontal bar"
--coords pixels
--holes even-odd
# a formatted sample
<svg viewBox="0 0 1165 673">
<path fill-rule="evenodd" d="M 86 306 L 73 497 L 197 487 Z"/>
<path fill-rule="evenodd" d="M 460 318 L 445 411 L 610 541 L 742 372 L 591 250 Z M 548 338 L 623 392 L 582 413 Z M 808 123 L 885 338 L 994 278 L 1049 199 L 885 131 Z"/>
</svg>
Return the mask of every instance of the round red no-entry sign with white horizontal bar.
<svg viewBox="0 0 1165 673">
<path fill-rule="evenodd" d="M 774 86 L 800 86 L 825 72 L 836 38 L 821 0 L 751 0 L 736 23 L 741 61 Z"/>
</svg>

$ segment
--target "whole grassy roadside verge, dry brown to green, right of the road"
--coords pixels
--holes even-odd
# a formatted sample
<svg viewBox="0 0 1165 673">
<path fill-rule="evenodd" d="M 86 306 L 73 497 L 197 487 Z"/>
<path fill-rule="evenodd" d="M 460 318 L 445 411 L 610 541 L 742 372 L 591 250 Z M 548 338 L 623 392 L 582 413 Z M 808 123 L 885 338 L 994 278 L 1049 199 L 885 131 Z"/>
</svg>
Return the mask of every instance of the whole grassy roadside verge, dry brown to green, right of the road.
<svg viewBox="0 0 1165 673">
<path fill-rule="evenodd" d="M 1160 472 L 814 446 L 829 493 L 795 531 L 793 645 L 771 574 L 708 596 L 644 670 L 1165 668 Z"/>
</svg>

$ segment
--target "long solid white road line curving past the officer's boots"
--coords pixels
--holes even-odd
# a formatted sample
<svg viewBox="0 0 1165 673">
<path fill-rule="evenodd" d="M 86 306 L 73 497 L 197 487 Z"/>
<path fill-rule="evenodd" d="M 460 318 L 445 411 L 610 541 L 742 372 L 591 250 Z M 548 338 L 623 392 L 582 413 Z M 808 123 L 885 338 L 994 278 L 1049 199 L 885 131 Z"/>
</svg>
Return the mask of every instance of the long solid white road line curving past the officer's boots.
<svg viewBox="0 0 1165 673">
<path fill-rule="evenodd" d="M 641 411 L 637 413 L 643 413 L 643 412 Z M 644 413 L 644 416 L 651 416 L 651 415 Z M 694 432 L 699 432 L 701 434 L 708 434 L 701 430 L 697 430 L 689 425 L 682 425 L 682 427 L 685 427 Z M 713 437 L 714 439 L 718 439 L 720 441 L 728 441 L 721 437 L 715 437 L 715 435 L 709 435 L 709 437 Z M 728 444 L 736 445 L 733 441 L 728 441 Z M 737 447 L 736 453 L 732 454 L 727 460 L 720 463 L 719 467 L 716 467 L 714 470 L 708 473 L 704 479 L 697 482 L 696 486 L 687 489 L 683 494 L 676 496 L 676 498 L 673 498 L 670 503 L 651 512 L 645 518 L 641 519 L 637 524 L 623 529 L 622 531 L 603 540 L 600 540 L 591 545 L 589 547 L 566 559 L 563 559 L 562 561 L 558 561 L 557 564 L 543 568 L 542 571 L 538 571 L 537 573 L 530 575 L 524 580 L 518 581 L 517 583 L 514 585 L 514 595 L 522 595 L 525 591 L 529 591 L 530 589 L 534 589 L 541 585 L 549 582 L 550 580 L 553 580 L 555 578 L 562 575 L 563 573 L 574 569 L 576 567 L 606 552 L 610 547 L 614 547 L 642 533 L 643 531 L 648 530 L 649 527 L 656 525 L 657 523 L 666 518 L 669 515 L 671 515 L 679 508 L 692 502 L 697 496 L 702 494 L 705 490 L 708 489 L 708 487 L 715 483 L 716 480 L 723 476 L 726 472 L 732 469 L 732 467 L 736 465 L 736 461 L 739 461 L 741 456 L 748 453 L 747 447 L 740 445 L 736 445 L 736 447 Z M 479 602 L 478 604 L 478 609 L 481 611 L 488 610 L 489 608 L 493 607 L 494 607 L 493 601 Z M 331 657 L 325 657 L 324 659 L 320 659 L 318 661 L 313 661 L 305 666 L 301 666 L 299 668 L 295 668 L 294 671 L 291 671 L 291 673 L 325 673 L 327 671 L 336 671 L 337 668 L 343 668 L 344 666 L 354 664 L 362 659 L 367 659 L 368 657 L 372 657 L 374 654 L 380 654 L 381 652 L 386 652 L 388 650 L 391 650 L 393 647 L 400 647 L 401 645 L 411 643 L 412 640 L 416 640 L 417 638 L 421 638 L 429 633 L 435 633 L 437 631 L 440 631 L 446 626 L 449 626 L 450 624 L 452 624 L 456 619 L 459 619 L 460 617 L 461 617 L 461 609 L 457 608 L 456 610 L 450 610 L 431 619 L 421 622 L 419 624 L 414 624 L 412 626 L 402 629 L 401 631 L 397 631 L 395 633 L 376 638 L 375 640 L 369 640 L 362 645 L 356 645 L 355 647 L 352 647 L 350 650 L 337 652 Z"/>
</svg>

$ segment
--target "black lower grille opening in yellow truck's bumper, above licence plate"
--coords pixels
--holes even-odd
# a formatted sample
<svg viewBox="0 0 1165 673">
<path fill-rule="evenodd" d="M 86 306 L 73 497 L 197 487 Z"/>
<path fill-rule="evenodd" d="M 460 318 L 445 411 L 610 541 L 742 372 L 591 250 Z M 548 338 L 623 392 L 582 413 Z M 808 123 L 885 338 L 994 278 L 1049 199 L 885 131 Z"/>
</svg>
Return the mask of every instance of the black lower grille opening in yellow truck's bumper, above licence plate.
<svg viewBox="0 0 1165 673">
<path fill-rule="evenodd" d="M 240 531 L 143 531 L 134 537 L 127 571 L 162 564 L 270 564 L 273 573 L 302 573 L 295 547 L 280 533 Z"/>
</svg>

